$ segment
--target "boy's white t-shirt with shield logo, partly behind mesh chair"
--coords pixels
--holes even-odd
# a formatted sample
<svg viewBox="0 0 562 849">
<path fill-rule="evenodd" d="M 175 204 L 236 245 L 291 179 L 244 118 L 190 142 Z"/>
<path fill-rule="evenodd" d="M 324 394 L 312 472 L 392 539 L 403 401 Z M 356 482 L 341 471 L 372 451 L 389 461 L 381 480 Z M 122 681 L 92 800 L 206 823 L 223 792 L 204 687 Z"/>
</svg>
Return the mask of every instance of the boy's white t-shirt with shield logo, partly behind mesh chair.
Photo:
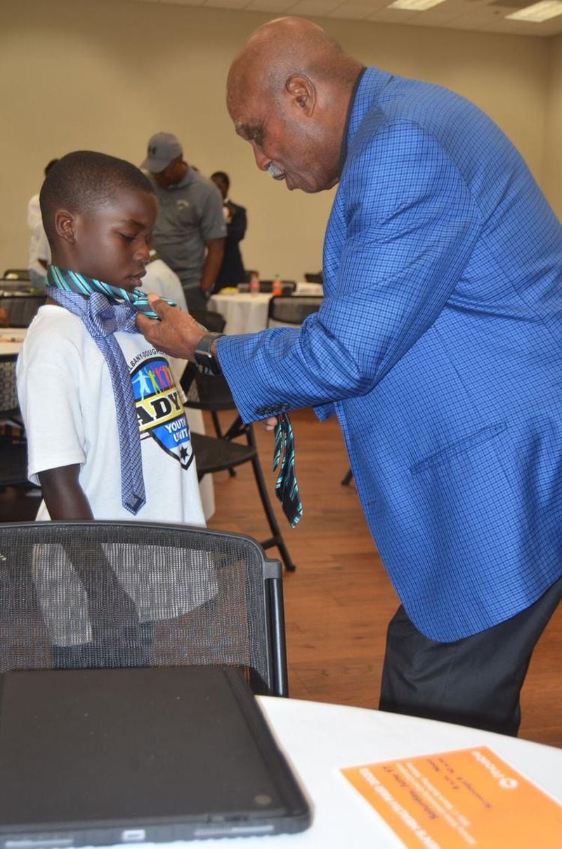
<svg viewBox="0 0 562 849">
<path fill-rule="evenodd" d="M 191 438 L 168 360 L 140 334 L 119 332 L 115 339 L 129 365 L 136 399 L 147 503 L 136 516 L 121 503 L 120 445 L 109 368 L 81 319 L 60 306 L 40 308 L 16 366 L 30 480 L 37 483 L 38 473 L 46 469 L 80 464 L 79 481 L 96 519 L 204 525 Z M 49 519 L 44 503 L 36 518 Z M 37 592 L 53 642 L 87 642 L 91 632 L 86 594 L 78 576 L 69 562 L 65 591 L 55 591 L 49 559 L 53 554 L 60 559 L 61 552 L 49 553 L 49 546 L 36 549 Z M 162 555 L 155 547 L 153 556 L 139 557 L 131 576 L 120 574 L 119 546 L 104 546 L 104 551 L 142 621 L 180 616 L 216 592 L 203 553 L 194 553 L 192 564 L 178 566 L 172 574 L 159 562 Z M 151 575 L 158 575 L 158 580 L 151 581 Z"/>
</svg>

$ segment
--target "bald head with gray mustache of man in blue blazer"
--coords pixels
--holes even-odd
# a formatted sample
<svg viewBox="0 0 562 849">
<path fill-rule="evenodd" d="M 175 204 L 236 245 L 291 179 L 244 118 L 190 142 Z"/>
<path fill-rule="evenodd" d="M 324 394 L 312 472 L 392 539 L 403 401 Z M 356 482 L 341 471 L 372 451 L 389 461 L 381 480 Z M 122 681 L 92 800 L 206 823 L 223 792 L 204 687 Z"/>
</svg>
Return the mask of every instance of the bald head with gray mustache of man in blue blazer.
<svg viewBox="0 0 562 849">
<path fill-rule="evenodd" d="M 256 162 L 288 188 L 337 183 L 345 115 L 362 65 L 320 26 L 279 18 L 260 26 L 231 65 L 227 106 Z"/>
</svg>

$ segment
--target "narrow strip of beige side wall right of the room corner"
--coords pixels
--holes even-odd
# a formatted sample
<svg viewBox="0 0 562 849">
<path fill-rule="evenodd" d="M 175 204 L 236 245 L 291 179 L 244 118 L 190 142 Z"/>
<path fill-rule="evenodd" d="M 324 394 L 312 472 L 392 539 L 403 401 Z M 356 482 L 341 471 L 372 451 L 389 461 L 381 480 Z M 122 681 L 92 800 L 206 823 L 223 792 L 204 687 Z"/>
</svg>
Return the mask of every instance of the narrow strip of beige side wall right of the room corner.
<svg viewBox="0 0 562 849">
<path fill-rule="evenodd" d="M 543 188 L 562 219 L 562 36 L 550 40 Z"/>
</svg>

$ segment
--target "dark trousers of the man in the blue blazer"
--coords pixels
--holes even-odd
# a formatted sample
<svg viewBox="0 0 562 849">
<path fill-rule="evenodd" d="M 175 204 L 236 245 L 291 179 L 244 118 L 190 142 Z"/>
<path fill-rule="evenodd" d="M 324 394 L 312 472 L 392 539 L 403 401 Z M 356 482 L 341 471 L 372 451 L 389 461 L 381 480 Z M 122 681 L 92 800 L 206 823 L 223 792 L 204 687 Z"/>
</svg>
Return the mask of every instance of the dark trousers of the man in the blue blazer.
<svg viewBox="0 0 562 849">
<path fill-rule="evenodd" d="M 531 654 L 562 597 L 562 578 L 517 616 L 454 643 L 435 643 L 402 605 L 387 632 L 381 711 L 516 735 Z"/>
</svg>

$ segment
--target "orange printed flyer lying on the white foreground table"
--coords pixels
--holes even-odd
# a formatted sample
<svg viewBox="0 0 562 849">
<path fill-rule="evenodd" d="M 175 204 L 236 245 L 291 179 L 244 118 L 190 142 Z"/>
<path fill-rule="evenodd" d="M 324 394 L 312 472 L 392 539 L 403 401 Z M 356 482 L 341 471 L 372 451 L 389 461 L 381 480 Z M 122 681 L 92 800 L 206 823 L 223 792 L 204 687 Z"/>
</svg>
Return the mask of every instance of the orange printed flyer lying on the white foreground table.
<svg viewBox="0 0 562 849">
<path fill-rule="evenodd" d="M 562 806 L 486 746 L 342 773 L 404 846 L 562 849 Z"/>
</svg>

